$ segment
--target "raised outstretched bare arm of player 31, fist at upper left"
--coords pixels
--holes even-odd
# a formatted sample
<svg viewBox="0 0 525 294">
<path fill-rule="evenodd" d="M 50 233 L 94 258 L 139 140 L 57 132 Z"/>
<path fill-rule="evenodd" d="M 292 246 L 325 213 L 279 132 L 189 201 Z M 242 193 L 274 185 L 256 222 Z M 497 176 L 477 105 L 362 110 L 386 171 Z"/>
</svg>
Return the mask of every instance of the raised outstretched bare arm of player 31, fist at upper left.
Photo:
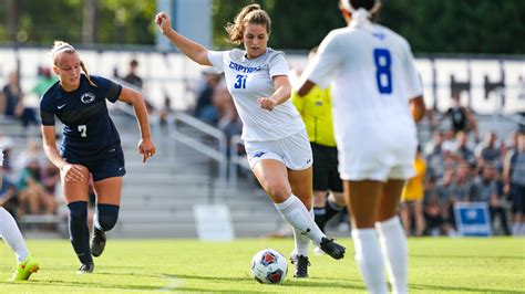
<svg viewBox="0 0 525 294">
<path fill-rule="evenodd" d="M 164 36 L 176 45 L 186 56 L 200 65 L 212 65 L 208 60 L 208 50 L 172 29 L 172 20 L 166 12 L 159 12 L 155 17 L 155 23 Z"/>
</svg>

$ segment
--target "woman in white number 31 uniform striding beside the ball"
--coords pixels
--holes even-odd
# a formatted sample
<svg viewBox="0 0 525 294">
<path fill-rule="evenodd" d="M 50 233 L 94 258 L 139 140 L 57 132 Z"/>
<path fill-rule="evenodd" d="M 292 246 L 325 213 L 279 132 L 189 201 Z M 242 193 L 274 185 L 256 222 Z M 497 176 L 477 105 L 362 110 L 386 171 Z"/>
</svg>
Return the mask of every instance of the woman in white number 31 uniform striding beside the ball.
<svg viewBox="0 0 525 294">
<path fill-rule="evenodd" d="M 327 238 L 309 210 L 312 155 L 301 118 L 289 101 L 291 86 L 285 54 L 267 48 L 270 18 L 258 4 L 246 6 L 227 25 L 229 40 L 245 50 L 209 51 L 172 29 L 167 13 L 155 22 L 161 32 L 194 62 L 225 72 L 226 85 L 243 120 L 248 161 L 282 218 L 294 227 L 296 277 L 307 277 L 308 243 L 334 259 L 344 248 Z"/>
</svg>

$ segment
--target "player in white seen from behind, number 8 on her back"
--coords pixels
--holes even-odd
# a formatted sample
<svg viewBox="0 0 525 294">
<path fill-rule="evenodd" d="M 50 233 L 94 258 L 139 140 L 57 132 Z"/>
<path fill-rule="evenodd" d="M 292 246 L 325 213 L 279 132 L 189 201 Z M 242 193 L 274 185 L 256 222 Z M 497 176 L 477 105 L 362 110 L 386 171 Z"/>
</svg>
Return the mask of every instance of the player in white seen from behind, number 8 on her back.
<svg viewBox="0 0 525 294">
<path fill-rule="evenodd" d="M 414 175 L 414 119 L 423 117 L 424 102 L 409 43 L 370 20 L 380 6 L 340 1 L 348 27 L 325 38 L 298 93 L 333 82 L 339 172 L 357 264 L 369 292 L 388 292 L 387 265 L 393 292 L 405 293 L 406 238 L 397 213 L 404 181 Z"/>
</svg>

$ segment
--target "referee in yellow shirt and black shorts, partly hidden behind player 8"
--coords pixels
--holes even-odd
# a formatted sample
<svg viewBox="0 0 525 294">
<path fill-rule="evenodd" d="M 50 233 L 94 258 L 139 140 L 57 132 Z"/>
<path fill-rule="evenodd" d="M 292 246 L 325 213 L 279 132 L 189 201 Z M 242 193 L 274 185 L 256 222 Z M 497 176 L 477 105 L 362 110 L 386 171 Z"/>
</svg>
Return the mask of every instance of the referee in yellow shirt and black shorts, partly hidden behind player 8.
<svg viewBox="0 0 525 294">
<path fill-rule="evenodd" d="M 310 50 L 308 60 L 316 53 L 317 48 Z M 317 225 L 325 232 L 325 223 L 344 208 L 330 88 L 321 90 L 316 86 L 302 97 L 294 93 L 291 102 L 299 111 L 310 138 L 313 153 L 313 214 Z"/>
</svg>

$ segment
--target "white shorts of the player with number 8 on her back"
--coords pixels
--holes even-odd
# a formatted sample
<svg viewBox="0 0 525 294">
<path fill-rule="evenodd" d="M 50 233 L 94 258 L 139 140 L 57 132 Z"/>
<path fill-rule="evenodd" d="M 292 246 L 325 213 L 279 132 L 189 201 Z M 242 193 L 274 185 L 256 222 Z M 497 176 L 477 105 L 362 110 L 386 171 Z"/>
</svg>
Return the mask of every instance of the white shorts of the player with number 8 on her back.
<svg viewBox="0 0 525 294">
<path fill-rule="evenodd" d="M 338 141 L 339 174 L 343 180 L 406 180 L 415 172 L 415 134 L 367 133 Z"/>
</svg>

